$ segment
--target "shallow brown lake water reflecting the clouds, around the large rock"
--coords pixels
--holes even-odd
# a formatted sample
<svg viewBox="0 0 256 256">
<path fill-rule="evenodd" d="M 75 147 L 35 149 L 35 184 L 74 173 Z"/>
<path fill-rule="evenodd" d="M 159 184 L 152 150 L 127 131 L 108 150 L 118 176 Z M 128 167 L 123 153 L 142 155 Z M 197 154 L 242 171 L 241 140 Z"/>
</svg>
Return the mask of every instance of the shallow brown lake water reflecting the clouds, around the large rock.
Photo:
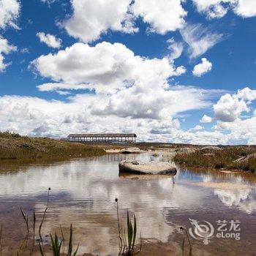
<svg viewBox="0 0 256 256">
<path fill-rule="evenodd" d="M 67 232 L 72 223 L 80 253 L 117 255 L 115 198 L 124 223 L 127 211 L 136 215 L 145 248 L 142 255 L 170 255 L 172 250 L 172 255 L 181 255 L 184 237 L 179 230 L 181 225 L 187 230 L 192 227 L 195 255 L 256 253 L 256 176 L 181 169 L 174 177 L 159 179 L 119 177 L 118 162 L 122 159 L 161 157 L 108 154 L 43 165 L 0 163 L 3 252 L 6 255 L 16 252 L 26 235 L 20 207 L 29 216 L 35 210 L 42 217 L 50 187 L 50 206 L 42 233 L 54 233 L 60 225 Z M 236 186 L 233 184 L 240 187 L 233 189 Z M 189 219 L 197 220 L 200 225 L 212 225 L 214 233 L 204 240 L 206 244 L 195 234 Z M 222 227 L 227 229 L 222 233 L 227 238 L 217 238 L 217 233 L 221 233 L 219 220 L 227 221 Z M 238 233 L 240 240 L 228 238 L 232 235 L 227 233 Z"/>
</svg>

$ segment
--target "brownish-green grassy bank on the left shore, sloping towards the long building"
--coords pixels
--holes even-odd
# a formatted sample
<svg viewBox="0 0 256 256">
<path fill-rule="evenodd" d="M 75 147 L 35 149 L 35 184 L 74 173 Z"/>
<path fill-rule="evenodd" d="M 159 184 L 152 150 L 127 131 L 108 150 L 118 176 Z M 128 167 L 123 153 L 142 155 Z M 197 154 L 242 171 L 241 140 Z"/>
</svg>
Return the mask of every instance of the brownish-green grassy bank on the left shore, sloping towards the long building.
<svg viewBox="0 0 256 256">
<path fill-rule="evenodd" d="M 0 132 L 0 160 L 94 157 L 102 154 L 105 154 L 104 149 L 95 146 Z"/>
</svg>

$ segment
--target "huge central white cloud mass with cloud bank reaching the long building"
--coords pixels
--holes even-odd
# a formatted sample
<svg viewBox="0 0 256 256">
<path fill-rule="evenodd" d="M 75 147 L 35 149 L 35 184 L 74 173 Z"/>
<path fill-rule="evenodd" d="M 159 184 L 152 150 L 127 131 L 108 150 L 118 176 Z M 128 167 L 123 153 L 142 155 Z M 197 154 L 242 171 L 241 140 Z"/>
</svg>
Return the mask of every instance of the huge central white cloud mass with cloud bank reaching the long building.
<svg viewBox="0 0 256 256">
<path fill-rule="evenodd" d="M 1 129 L 29 135 L 65 136 L 69 132 L 136 132 L 140 140 L 225 143 L 221 132 L 202 127 L 183 131 L 175 116 L 208 107 L 219 91 L 172 86 L 181 75 L 173 59 L 146 59 L 122 44 L 76 43 L 34 60 L 39 75 L 54 82 L 39 91 L 91 90 L 64 102 L 35 97 L 1 97 Z M 156 93 L 157 92 L 157 93 Z M 8 113 L 8 114 L 7 114 Z M 13 115 L 12 115 L 13 113 Z M 113 123 L 115 127 L 113 127 Z M 33 124 L 33 125 L 31 125 Z M 49 132 L 50 131 L 50 132 Z"/>
</svg>

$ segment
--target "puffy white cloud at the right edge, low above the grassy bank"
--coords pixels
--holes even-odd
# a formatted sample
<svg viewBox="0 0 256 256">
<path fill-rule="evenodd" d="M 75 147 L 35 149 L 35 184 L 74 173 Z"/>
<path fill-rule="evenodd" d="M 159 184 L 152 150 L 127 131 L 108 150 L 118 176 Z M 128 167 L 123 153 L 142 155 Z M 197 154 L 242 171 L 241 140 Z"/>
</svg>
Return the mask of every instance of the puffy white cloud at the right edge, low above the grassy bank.
<svg viewBox="0 0 256 256">
<path fill-rule="evenodd" d="M 222 134 L 222 140 L 230 144 L 256 144 L 256 117 L 241 118 L 242 113 L 251 112 L 249 105 L 256 99 L 256 90 L 248 87 L 235 94 L 224 94 L 214 104 L 214 117 L 204 115 L 202 123 L 217 121 L 213 129 Z"/>
</svg>

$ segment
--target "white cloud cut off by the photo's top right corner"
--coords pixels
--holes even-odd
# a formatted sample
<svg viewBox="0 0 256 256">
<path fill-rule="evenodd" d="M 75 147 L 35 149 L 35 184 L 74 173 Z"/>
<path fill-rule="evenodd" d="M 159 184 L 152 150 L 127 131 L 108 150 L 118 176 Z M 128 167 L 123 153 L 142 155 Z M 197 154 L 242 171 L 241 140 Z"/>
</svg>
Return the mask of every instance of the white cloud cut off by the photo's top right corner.
<svg viewBox="0 0 256 256">
<path fill-rule="evenodd" d="M 232 9 L 237 15 L 249 18 L 256 15 L 255 0 L 193 0 L 198 12 L 208 18 L 222 18 Z"/>
</svg>

